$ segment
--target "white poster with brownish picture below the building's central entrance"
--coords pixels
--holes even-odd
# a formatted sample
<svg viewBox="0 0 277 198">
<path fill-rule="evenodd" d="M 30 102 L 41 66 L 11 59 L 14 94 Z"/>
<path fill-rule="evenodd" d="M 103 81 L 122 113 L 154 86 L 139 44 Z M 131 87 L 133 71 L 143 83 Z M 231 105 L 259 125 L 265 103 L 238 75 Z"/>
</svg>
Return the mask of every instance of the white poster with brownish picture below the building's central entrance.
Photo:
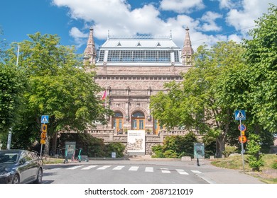
<svg viewBox="0 0 277 198">
<path fill-rule="evenodd" d="M 129 155 L 145 155 L 145 131 L 129 130 L 127 140 L 127 152 Z"/>
</svg>

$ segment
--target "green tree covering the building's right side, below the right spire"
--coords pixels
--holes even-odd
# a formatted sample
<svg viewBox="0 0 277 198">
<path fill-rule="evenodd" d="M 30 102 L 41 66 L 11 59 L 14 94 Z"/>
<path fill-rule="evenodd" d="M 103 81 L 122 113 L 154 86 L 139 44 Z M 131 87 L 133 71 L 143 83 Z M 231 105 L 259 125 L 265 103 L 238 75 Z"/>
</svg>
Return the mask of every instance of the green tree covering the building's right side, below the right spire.
<svg viewBox="0 0 277 198">
<path fill-rule="evenodd" d="M 168 128 L 193 127 L 214 137 L 221 157 L 227 134 L 234 130 L 234 110 L 244 104 L 247 86 L 239 74 L 245 66 L 243 52 L 232 41 L 218 42 L 210 49 L 200 46 L 195 66 L 183 74 L 183 82 L 167 83 L 168 93 L 151 97 L 153 117 Z"/>
</svg>

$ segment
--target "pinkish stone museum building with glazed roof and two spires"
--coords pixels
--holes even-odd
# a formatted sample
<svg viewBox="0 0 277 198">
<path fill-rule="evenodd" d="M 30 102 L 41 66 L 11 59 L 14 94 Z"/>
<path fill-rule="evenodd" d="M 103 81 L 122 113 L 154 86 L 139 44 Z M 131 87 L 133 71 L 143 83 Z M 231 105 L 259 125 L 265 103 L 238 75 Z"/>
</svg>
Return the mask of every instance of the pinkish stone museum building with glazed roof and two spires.
<svg viewBox="0 0 277 198">
<path fill-rule="evenodd" d="M 97 50 L 93 28 L 89 29 L 84 62 L 93 64 L 95 82 L 104 88 L 106 105 L 114 111 L 107 117 L 108 124 L 97 124 L 97 129 L 146 130 L 158 134 L 161 127 L 151 115 L 150 97 L 159 91 L 166 93 L 164 83 L 183 80 L 192 66 L 192 45 L 189 28 L 185 29 L 183 48 L 173 42 L 172 35 L 154 37 L 137 35 L 107 40 Z M 89 70 L 88 70 L 89 71 Z"/>
</svg>

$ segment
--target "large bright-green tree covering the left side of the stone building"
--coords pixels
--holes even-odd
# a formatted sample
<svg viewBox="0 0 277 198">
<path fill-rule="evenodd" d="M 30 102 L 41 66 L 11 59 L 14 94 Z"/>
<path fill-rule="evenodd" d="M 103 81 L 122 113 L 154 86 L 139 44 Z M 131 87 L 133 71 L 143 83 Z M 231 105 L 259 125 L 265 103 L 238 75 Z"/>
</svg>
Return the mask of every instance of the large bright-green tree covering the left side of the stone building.
<svg viewBox="0 0 277 198">
<path fill-rule="evenodd" d="M 94 82 L 94 73 L 86 72 L 88 65 L 75 54 L 75 48 L 60 45 L 57 35 L 36 33 L 29 37 L 31 40 L 19 43 L 19 67 L 24 69 L 30 86 L 24 93 L 22 112 L 26 127 L 16 127 L 16 134 L 32 129 L 33 136 L 27 138 L 39 136 L 41 115 L 49 115 L 48 137 L 58 131 L 82 132 L 94 122 L 104 123 L 104 115 L 110 111 L 97 96 L 102 88 Z M 6 63 L 14 62 L 15 45 L 8 54 Z"/>
</svg>

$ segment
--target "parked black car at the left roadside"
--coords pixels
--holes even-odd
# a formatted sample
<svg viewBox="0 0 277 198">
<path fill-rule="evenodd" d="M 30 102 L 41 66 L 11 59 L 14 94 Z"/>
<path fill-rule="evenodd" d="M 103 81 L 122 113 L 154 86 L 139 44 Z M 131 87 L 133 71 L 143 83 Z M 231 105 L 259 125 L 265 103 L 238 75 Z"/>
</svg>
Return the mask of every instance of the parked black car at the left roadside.
<svg viewBox="0 0 277 198">
<path fill-rule="evenodd" d="M 0 151 L 0 183 L 41 183 L 43 161 L 37 153 L 26 150 Z"/>
</svg>

